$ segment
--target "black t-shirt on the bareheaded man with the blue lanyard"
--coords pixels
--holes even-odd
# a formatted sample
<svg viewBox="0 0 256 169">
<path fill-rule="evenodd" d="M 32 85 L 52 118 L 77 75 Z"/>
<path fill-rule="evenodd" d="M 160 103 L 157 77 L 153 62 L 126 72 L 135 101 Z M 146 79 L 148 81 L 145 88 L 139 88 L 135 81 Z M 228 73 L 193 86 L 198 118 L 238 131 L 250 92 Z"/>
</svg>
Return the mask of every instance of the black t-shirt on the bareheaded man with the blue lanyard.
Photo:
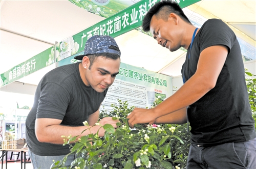
<svg viewBox="0 0 256 169">
<path fill-rule="evenodd" d="M 228 55 L 214 89 L 188 107 L 191 142 L 201 145 L 244 142 L 255 137 L 240 45 L 233 31 L 219 19 L 207 20 L 182 66 L 183 79 L 197 70 L 200 53 L 207 47 L 224 45 Z M 190 59 L 188 53 L 190 52 Z"/>
</svg>

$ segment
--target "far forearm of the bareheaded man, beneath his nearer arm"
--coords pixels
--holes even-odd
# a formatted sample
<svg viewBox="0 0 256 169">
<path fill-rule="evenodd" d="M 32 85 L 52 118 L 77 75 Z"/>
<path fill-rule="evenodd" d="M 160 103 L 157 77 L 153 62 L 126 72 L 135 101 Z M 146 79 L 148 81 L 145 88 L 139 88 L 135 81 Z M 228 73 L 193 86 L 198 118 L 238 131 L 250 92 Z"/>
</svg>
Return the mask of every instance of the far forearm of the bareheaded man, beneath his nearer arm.
<svg viewBox="0 0 256 169">
<path fill-rule="evenodd" d="M 156 124 L 184 124 L 187 122 L 186 108 L 174 111 L 156 119 Z"/>
</svg>

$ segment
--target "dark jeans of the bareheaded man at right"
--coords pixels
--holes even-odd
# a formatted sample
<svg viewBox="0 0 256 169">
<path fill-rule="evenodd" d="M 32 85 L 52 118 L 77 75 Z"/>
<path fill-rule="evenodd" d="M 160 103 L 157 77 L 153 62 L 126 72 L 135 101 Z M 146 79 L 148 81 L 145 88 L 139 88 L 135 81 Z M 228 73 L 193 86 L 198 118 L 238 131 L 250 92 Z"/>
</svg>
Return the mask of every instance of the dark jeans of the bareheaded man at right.
<svg viewBox="0 0 256 169">
<path fill-rule="evenodd" d="M 256 138 L 211 147 L 191 144 L 187 159 L 187 169 L 190 168 L 255 169 Z"/>
</svg>

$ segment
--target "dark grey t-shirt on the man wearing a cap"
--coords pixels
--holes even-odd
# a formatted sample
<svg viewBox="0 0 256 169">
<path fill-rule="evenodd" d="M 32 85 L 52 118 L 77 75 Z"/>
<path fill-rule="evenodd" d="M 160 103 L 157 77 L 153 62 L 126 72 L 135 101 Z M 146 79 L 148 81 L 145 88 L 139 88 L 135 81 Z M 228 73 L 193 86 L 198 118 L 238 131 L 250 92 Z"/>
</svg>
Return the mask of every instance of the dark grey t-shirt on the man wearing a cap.
<svg viewBox="0 0 256 169">
<path fill-rule="evenodd" d="M 78 65 L 53 69 L 37 86 L 34 105 L 26 120 L 26 142 L 34 154 L 56 156 L 70 152 L 69 145 L 38 142 L 34 129 L 36 118 L 59 119 L 60 125 L 83 126 L 82 122 L 98 110 L 106 95 L 107 90 L 98 93 L 83 83 Z"/>
</svg>

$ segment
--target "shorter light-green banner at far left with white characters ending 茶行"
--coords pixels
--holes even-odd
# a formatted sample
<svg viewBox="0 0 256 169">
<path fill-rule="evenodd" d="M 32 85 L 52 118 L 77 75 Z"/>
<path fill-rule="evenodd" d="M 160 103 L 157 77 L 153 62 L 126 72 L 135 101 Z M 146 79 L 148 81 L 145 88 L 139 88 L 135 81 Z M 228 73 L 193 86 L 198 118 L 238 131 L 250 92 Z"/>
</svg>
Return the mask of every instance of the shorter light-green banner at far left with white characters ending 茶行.
<svg viewBox="0 0 256 169">
<path fill-rule="evenodd" d="M 54 63 L 54 46 L 1 74 L 0 87 Z"/>
</svg>

